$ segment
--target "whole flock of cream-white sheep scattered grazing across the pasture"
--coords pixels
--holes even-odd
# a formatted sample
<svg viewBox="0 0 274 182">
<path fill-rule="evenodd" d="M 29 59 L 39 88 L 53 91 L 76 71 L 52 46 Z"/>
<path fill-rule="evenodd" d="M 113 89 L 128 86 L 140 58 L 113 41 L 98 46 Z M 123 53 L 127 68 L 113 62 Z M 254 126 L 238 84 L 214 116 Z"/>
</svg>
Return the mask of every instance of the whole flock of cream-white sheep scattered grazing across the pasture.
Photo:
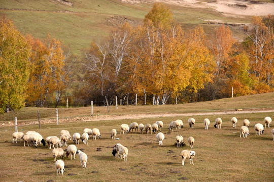
<svg viewBox="0 0 274 182">
<path fill-rule="evenodd" d="M 265 117 L 264 118 L 264 122 L 265 122 L 265 127 L 266 124 L 269 125 L 271 123 L 271 118 L 270 117 Z M 235 128 L 236 127 L 236 123 L 237 123 L 237 119 L 235 117 L 231 118 L 231 122 L 232 122 L 232 127 Z M 195 119 L 194 118 L 190 118 L 188 119 L 188 124 L 190 126 L 190 128 L 194 128 L 195 125 Z M 209 124 L 210 124 L 210 120 L 208 118 L 205 118 L 203 120 L 203 124 L 204 124 L 204 129 L 209 129 Z M 240 137 L 242 137 L 242 135 L 244 136 L 244 138 L 247 138 L 247 136 L 249 135 L 249 120 L 245 119 L 243 122 L 243 126 L 240 128 L 241 134 Z M 217 118 L 215 120 L 215 125 L 214 127 L 218 129 L 221 129 L 221 125 L 222 125 L 222 119 L 221 118 Z M 172 121 L 170 122 L 168 129 L 174 131 L 174 129 L 176 129 L 177 131 L 180 131 L 180 128 L 183 128 L 184 124 L 183 121 L 178 119 L 176 121 Z M 121 125 L 121 130 L 120 130 L 120 134 L 123 131 L 123 134 L 128 133 L 130 131 L 133 132 L 133 129 L 135 130 L 135 132 L 139 131 L 143 134 L 143 131 L 145 131 L 146 133 L 150 133 L 152 134 L 152 132 L 154 132 L 156 135 L 156 139 L 159 142 L 160 146 L 163 146 L 163 140 L 165 138 L 164 134 L 162 132 L 158 132 L 158 131 L 162 131 L 163 128 L 163 122 L 162 121 L 157 121 L 154 124 L 138 124 L 136 122 L 131 123 L 129 126 L 127 124 L 122 124 Z M 254 126 L 255 130 L 256 130 L 256 134 L 261 135 L 264 131 L 264 127 L 262 124 L 257 123 Z M 272 136 L 273 136 L 273 141 L 274 141 L 274 129 L 271 130 Z M 116 129 L 112 129 L 111 130 L 111 139 L 118 139 L 116 138 L 117 135 L 117 131 Z M 41 145 L 41 143 L 45 146 L 46 143 L 48 143 L 48 148 L 51 149 L 51 145 L 53 147 L 52 153 L 53 153 L 53 159 L 54 161 L 56 161 L 56 158 L 60 158 L 59 160 L 56 161 L 55 163 L 55 167 L 57 169 L 57 175 L 59 175 L 59 173 L 61 172 L 61 174 L 63 175 L 63 171 L 64 169 L 64 162 L 61 160 L 61 158 L 64 158 L 64 155 L 66 155 L 66 157 L 68 157 L 69 155 L 71 155 L 71 160 L 72 160 L 72 155 L 74 155 L 74 159 L 75 159 L 75 154 L 78 154 L 80 157 L 80 161 L 81 161 L 81 166 L 86 168 L 86 162 L 87 162 L 87 155 L 83 152 L 82 149 L 77 150 L 77 147 L 75 145 L 69 145 L 67 147 L 67 149 L 63 150 L 60 147 L 64 147 L 67 146 L 67 142 L 68 140 L 72 140 L 74 141 L 74 143 L 76 145 L 79 145 L 80 140 L 88 145 L 88 139 L 93 138 L 93 140 L 96 138 L 100 139 L 101 135 L 100 135 L 100 131 L 97 128 L 93 128 L 93 129 L 89 129 L 89 128 L 85 128 L 83 131 L 83 134 L 81 136 L 80 133 L 76 132 L 73 134 L 73 137 L 70 135 L 70 132 L 67 130 L 61 130 L 60 131 L 60 138 L 58 138 L 57 136 L 48 136 L 46 138 L 46 140 L 43 139 L 42 135 L 39 134 L 36 131 L 27 131 L 25 134 L 23 132 L 14 132 L 12 134 L 13 136 L 13 140 L 12 143 L 14 143 L 14 141 L 17 143 L 17 139 L 19 139 L 19 142 L 21 142 L 21 139 L 23 139 L 24 142 L 24 146 L 25 143 L 30 146 L 36 146 L 39 144 Z M 180 148 L 184 143 L 183 143 L 183 136 L 181 135 L 177 135 L 176 136 L 176 145 L 178 148 Z M 119 139 L 118 139 L 119 140 Z M 190 145 L 191 149 L 194 149 L 194 138 L 192 136 L 190 136 L 188 138 L 188 143 Z M 58 148 L 59 146 L 59 148 Z M 55 148 L 56 147 L 56 148 Z M 112 151 L 113 156 L 117 156 L 118 158 L 121 157 L 121 159 L 124 159 L 124 161 L 127 161 L 127 155 L 128 155 L 128 149 L 126 147 L 124 147 L 121 144 L 116 144 L 113 147 L 113 151 Z M 186 159 L 190 159 L 190 164 L 193 163 L 193 157 L 195 156 L 195 151 L 189 151 L 189 150 L 183 150 L 181 152 L 181 157 L 182 157 L 182 165 L 184 166 L 184 162 Z"/>
</svg>

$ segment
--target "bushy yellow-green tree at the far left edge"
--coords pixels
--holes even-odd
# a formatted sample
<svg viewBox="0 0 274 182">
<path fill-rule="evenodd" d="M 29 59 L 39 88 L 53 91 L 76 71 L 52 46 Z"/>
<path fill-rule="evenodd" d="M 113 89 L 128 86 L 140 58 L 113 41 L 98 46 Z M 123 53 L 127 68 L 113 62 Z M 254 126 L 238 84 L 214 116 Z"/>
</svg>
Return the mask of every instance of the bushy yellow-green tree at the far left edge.
<svg viewBox="0 0 274 182">
<path fill-rule="evenodd" d="M 0 113 L 24 106 L 30 46 L 6 17 L 0 19 Z"/>
</svg>

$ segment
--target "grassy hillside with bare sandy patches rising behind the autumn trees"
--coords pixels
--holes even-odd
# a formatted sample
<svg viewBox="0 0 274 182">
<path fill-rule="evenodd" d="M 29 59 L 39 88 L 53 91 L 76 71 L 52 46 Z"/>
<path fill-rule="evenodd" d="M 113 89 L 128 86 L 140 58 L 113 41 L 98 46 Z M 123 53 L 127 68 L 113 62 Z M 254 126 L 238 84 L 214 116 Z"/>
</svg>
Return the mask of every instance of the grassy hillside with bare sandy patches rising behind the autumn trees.
<svg viewBox="0 0 274 182">
<path fill-rule="evenodd" d="M 218 24 L 225 23 L 230 26 L 238 40 L 245 37 L 243 26 L 251 21 L 252 14 L 244 13 L 248 15 L 246 16 L 243 13 L 235 15 L 223 12 L 223 9 L 216 8 L 216 1 L 157 2 L 167 3 L 175 19 L 183 23 L 185 29 L 200 24 L 205 32 L 209 33 Z M 251 6 L 263 4 L 259 1 L 236 2 L 238 3 L 230 6 L 233 12 L 243 12 L 245 9 L 247 10 L 244 12 L 247 12 Z M 243 5 L 241 2 L 244 2 Z M 18 29 L 25 34 L 39 38 L 51 34 L 63 40 L 65 44 L 70 44 L 73 53 L 81 55 L 82 49 L 87 48 L 91 40 L 108 34 L 115 26 L 124 22 L 142 23 L 152 5 L 147 4 L 147 1 L 124 0 L 4 0 L 0 2 L 0 16 L 6 15 L 13 19 Z M 262 15 L 265 15 L 269 7 L 271 10 L 274 4 L 266 5 L 268 8 L 260 11 L 263 12 Z M 259 12 L 257 9 L 254 11 L 254 8 L 252 10 Z"/>
</svg>

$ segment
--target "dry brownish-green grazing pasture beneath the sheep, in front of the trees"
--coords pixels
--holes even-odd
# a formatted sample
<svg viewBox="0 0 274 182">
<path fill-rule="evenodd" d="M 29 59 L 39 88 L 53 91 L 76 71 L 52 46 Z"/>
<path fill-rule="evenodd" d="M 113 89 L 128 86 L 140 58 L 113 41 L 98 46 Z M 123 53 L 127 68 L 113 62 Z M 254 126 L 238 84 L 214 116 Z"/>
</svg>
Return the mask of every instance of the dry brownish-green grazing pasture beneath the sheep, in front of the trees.
<svg viewBox="0 0 274 182">
<path fill-rule="evenodd" d="M 268 98 L 268 100 L 266 99 Z M 136 113 L 163 113 L 172 112 L 212 112 L 216 110 L 235 109 L 242 106 L 245 108 L 268 108 L 273 109 L 273 94 L 262 94 L 230 99 L 222 99 L 203 103 L 166 105 L 163 107 L 137 106 Z M 219 107 L 216 103 L 219 103 Z M 224 104 L 226 103 L 226 104 Z M 246 103 L 242 104 L 241 103 Z M 253 104 L 252 104 L 253 103 Z M 233 106 L 234 104 L 234 106 Z M 207 108 L 205 108 L 207 106 Z M 211 107 L 210 107 L 211 106 Z M 256 107 L 255 107 L 256 106 Z M 141 108 L 145 109 L 141 109 Z M 147 108 L 146 108 L 147 107 Z M 166 107 L 167 111 L 163 108 Z M 178 107 L 178 108 L 177 108 Z M 186 109 L 186 107 L 188 109 Z M 98 108 L 98 107 L 95 107 Z M 102 109 L 104 107 L 100 107 Z M 150 109 L 148 109 L 150 108 Z M 174 108 L 174 110 L 172 110 Z M 180 109 L 181 108 L 181 109 Z M 185 109 L 182 109 L 185 108 Z M 244 109 L 245 109 L 244 108 Z M 74 108 L 75 114 L 85 108 Z M 106 108 L 105 108 L 106 109 Z M 25 111 L 24 111 L 25 110 Z M 33 108 L 25 108 L 20 112 L 27 113 Z M 115 110 L 115 109 L 113 109 Z M 118 109 L 119 110 L 119 109 Z M 126 107 L 125 110 L 134 110 L 134 106 Z M 145 111 L 146 110 L 146 111 Z M 64 115 L 65 115 L 65 111 Z M 9 115 L 8 113 L 7 115 Z M 21 113 L 22 114 L 22 113 Z M 72 113 L 71 113 L 72 114 Z M 106 113 L 104 113 L 107 115 Z M 115 113 L 118 115 L 117 113 Z M 120 115 L 128 114 L 128 111 L 121 112 Z M 3 121 L 1 115 L 0 121 Z M 23 114 L 22 114 L 23 115 Z M 33 114 L 34 115 L 34 114 Z M 79 113 L 81 115 L 81 113 Z M 79 116 L 78 115 L 78 116 Z M 29 114 L 29 117 L 31 114 Z M 86 120 L 74 122 L 61 122 L 57 126 L 55 123 L 45 123 L 39 129 L 38 125 L 21 125 L 18 131 L 26 132 L 35 130 L 45 139 L 47 136 L 59 136 L 61 129 L 67 129 L 71 135 L 74 132 L 82 134 L 84 128 L 98 128 L 101 139 L 88 141 L 88 145 L 81 143 L 77 149 L 84 149 L 88 155 L 87 168 L 81 168 L 79 156 L 76 160 L 64 158 L 64 175 L 57 176 L 53 155 L 47 145 L 44 147 L 24 147 L 23 143 L 13 144 L 12 133 L 14 126 L 0 128 L 0 178 L 2 181 L 273 181 L 274 156 L 271 129 L 265 128 L 262 135 L 256 135 L 254 125 L 262 123 L 264 117 L 270 116 L 273 120 L 274 113 L 248 113 L 248 114 L 224 114 L 194 116 L 196 119 L 195 128 L 189 128 L 187 119 L 190 117 L 160 117 L 127 120 Z M 110 116 L 111 117 L 111 116 Z M 215 119 L 221 117 L 223 120 L 222 129 L 214 128 Z M 236 117 L 238 123 L 236 128 L 232 128 L 230 119 Z M 203 119 L 209 118 L 211 124 L 209 130 L 204 130 Z M 169 131 L 168 125 L 171 121 L 182 119 L 184 128 L 177 131 Z M 250 135 L 247 139 L 239 138 L 239 128 L 243 120 L 250 120 Z M 9 121 L 9 119 L 6 119 Z M 164 122 L 163 133 L 165 139 L 163 146 L 159 146 L 156 134 L 140 134 L 130 132 L 120 134 L 122 123 L 130 124 L 138 122 L 153 124 L 161 120 Z M 115 128 L 118 132 L 119 140 L 111 140 L 110 131 Z M 176 135 L 182 135 L 185 146 L 178 149 L 175 146 Z M 196 156 L 193 158 L 194 165 L 185 161 L 182 166 L 179 156 L 182 150 L 191 150 L 187 144 L 187 138 L 193 136 L 195 139 L 194 151 Z M 128 148 L 128 159 L 124 162 L 117 157 L 113 157 L 112 147 L 120 143 Z M 69 141 L 68 145 L 74 144 Z M 62 147 L 66 149 L 67 147 Z M 68 175 L 76 174 L 76 175 Z"/>
</svg>

